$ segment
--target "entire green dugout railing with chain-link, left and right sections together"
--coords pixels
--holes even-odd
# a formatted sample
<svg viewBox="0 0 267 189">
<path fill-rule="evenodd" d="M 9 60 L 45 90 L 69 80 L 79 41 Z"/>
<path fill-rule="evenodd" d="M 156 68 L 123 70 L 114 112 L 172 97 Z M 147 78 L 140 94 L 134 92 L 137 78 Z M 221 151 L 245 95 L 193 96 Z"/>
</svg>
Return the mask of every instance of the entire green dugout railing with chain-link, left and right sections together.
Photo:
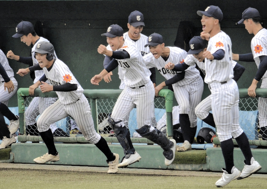
<svg viewBox="0 0 267 189">
<path fill-rule="evenodd" d="M 95 130 L 103 136 L 109 143 L 118 143 L 112 129 L 107 124 L 107 115 L 112 112 L 112 108 L 121 93 L 121 89 L 85 89 L 84 95 L 88 99 L 91 106 L 91 113 L 95 123 Z M 256 89 L 256 98 L 248 96 L 247 89 L 239 89 L 240 102 L 239 102 L 239 122 L 242 129 L 245 131 L 250 145 L 254 146 L 267 146 L 267 140 L 262 140 L 258 130 L 258 97 L 266 98 L 267 89 Z M 18 109 L 20 116 L 20 127 L 19 127 L 19 142 L 39 142 L 42 141 L 40 136 L 25 135 L 25 110 L 29 103 L 33 99 L 33 96 L 29 96 L 29 88 L 20 88 L 17 91 L 18 94 Z M 35 89 L 35 96 L 39 97 L 57 97 L 54 91 L 49 93 L 41 93 L 40 89 Z M 162 89 L 159 93 L 159 97 L 155 98 L 155 117 L 158 121 L 166 113 L 166 126 L 167 136 L 172 138 L 173 136 L 173 125 L 172 125 L 172 107 L 173 107 L 174 93 L 168 89 Z M 264 104 L 267 106 L 267 104 Z M 153 144 L 146 138 L 138 138 L 134 136 L 134 129 L 137 128 L 136 124 L 136 109 L 131 111 L 127 120 L 129 130 L 131 133 L 131 140 L 133 143 L 147 143 Z M 267 113 L 266 113 L 267 114 Z M 71 124 L 75 124 L 71 117 L 65 118 L 57 122 L 57 126 L 65 129 L 65 132 L 70 132 Z M 204 125 L 204 124 L 203 124 Z M 267 127 L 266 127 L 267 128 Z M 267 131 L 266 131 L 267 132 Z M 64 143 L 87 143 L 87 140 L 80 134 L 70 134 L 70 137 L 54 137 L 55 142 Z M 233 139 L 234 144 L 237 145 Z M 220 144 L 218 138 L 214 138 L 214 144 Z"/>
</svg>

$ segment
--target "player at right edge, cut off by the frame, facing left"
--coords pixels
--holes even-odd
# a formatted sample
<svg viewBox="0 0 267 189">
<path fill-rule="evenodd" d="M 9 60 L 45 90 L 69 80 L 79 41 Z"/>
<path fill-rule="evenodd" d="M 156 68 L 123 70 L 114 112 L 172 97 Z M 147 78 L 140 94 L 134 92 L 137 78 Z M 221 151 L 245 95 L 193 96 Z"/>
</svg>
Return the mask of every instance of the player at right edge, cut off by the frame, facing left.
<svg viewBox="0 0 267 189">
<path fill-rule="evenodd" d="M 256 97 L 256 87 L 260 79 L 260 88 L 267 88 L 267 29 L 263 28 L 260 21 L 260 13 L 257 9 L 249 7 L 242 14 L 242 19 L 238 24 L 243 23 L 250 34 L 254 34 L 251 40 L 251 51 L 249 54 L 233 54 L 233 59 L 240 61 L 253 61 L 258 67 L 258 71 L 248 88 L 248 95 Z M 267 140 L 267 98 L 259 97 L 258 101 L 260 134 L 263 140 Z"/>
</svg>

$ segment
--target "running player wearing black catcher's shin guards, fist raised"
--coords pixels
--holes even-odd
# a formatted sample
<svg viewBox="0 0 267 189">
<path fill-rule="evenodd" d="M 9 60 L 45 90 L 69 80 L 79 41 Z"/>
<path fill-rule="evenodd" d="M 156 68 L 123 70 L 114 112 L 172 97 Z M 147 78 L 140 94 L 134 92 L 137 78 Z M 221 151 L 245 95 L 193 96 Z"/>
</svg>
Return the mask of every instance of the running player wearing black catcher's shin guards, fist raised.
<svg viewBox="0 0 267 189">
<path fill-rule="evenodd" d="M 159 144 L 164 149 L 165 164 L 170 165 L 174 160 L 176 142 L 173 139 L 168 140 L 166 135 L 151 126 L 155 89 L 150 80 L 151 73 L 146 68 L 142 54 L 133 43 L 123 38 L 123 29 L 119 25 L 109 26 L 107 33 L 103 33 L 101 36 L 106 36 L 107 43 L 112 51 L 107 50 L 104 45 L 99 45 L 98 53 L 105 54 L 113 59 L 100 74 L 91 79 L 91 83 L 99 85 L 103 77 L 118 65 L 124 75 L 125 88 L 117 99 L 112 113 L 109 114 L 108 120 L 124 149 L 125 156 L 118 167 L 127 167 L 141 159 L 141 156 L 133 147 L 130 132 L 123 121 L 135 106 L 139 128 L 136 132 L 142 137 Z"/>
</svg>

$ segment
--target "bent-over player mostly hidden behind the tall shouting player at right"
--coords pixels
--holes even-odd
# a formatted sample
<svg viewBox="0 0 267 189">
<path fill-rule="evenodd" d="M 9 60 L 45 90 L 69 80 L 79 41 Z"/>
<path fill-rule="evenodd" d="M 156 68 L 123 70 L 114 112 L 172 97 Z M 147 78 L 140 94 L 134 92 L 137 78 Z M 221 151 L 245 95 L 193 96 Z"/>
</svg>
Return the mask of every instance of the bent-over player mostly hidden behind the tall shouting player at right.
<svg viewBox="0 0 267 189">
<path fill-rule="evenodd" d="M 194 36 L 189 41 L 190 50 L 188 51 L 188 56 L 184 60 L 182 64 L 168 63 L 166 64 L 166 69 L 173 69 L 174 71 L 184 71 L 189 66 L 197 64 L 200 70 L 206 75 L 205 72 L 205 58 L 203 53 L 207 50 L 207 42 L 205 39 L 202 39 L 200 36 Z M 238 64 L 236 61 L 232 61 L 232 67 L 234 70 L 235 81 L 241 77 L 242 73 L 245 71 L 245 68 Z M 215 122 L 213 119 L 212 113 L 210 113 L 211 109 L 211 96 L 208 96 L 204 100 L 202 100 L 195 108 L 195 113 L 198 118 L 203 120 L 205 123 L 215 128 Z"/>
</svg>

